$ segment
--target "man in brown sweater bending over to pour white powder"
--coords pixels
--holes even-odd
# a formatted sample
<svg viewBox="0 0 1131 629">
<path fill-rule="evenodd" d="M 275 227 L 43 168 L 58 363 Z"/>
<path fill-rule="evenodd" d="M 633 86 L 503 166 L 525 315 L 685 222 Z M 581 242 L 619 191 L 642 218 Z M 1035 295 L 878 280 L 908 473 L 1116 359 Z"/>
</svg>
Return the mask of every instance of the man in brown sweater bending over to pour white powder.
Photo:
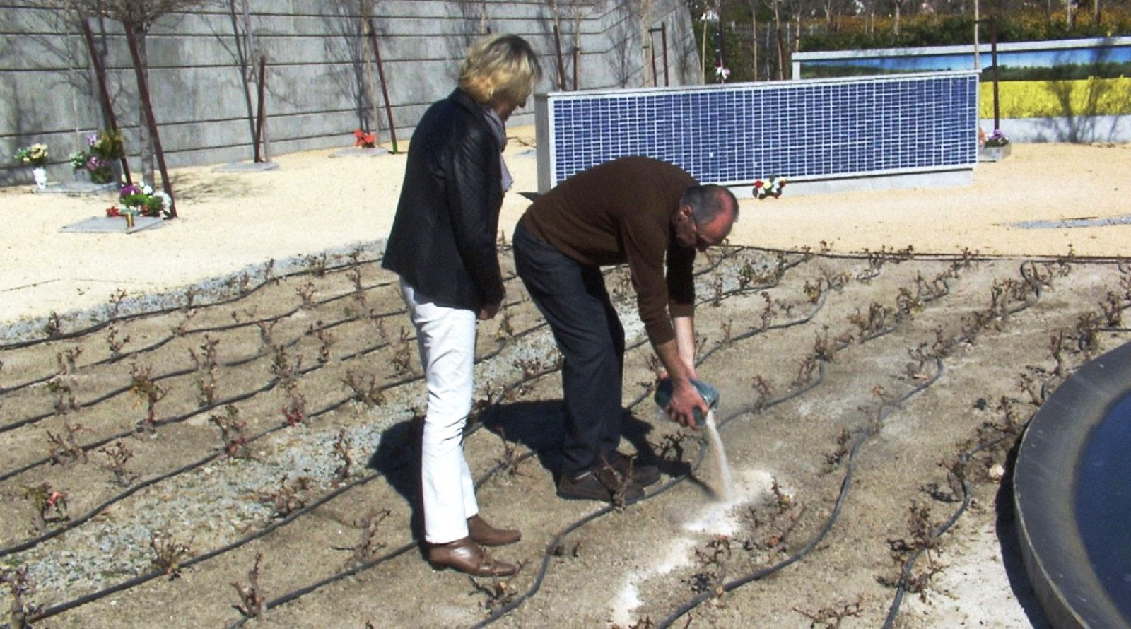
<svg viewBox="0 0 1131 629">
<path fill-rule="evenodd" d="M 659 479 L 655 465 L 618 451 L 624 329 L 601 267 L 628 264 L 648 339 L 668 376 L 671 417 L 694 426 L 707 404 L 694 368 L 696 252 L 731 232 L 739 204 L 724 187 L 700 186 L 679 166 L 622 157 L 562 181 L 515 229 L 519 277 L 564 357 L 563 463 L 558 496 L 623 501 Z"/>
</svg>

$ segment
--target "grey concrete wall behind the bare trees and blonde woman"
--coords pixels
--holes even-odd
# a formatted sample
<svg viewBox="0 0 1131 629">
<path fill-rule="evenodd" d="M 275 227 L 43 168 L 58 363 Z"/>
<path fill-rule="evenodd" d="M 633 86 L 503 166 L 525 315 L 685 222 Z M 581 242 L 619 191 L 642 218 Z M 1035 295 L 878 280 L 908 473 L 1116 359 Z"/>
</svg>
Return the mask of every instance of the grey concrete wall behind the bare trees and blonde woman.
<svg viewBox="0 0 1131 629">
<path fill-rule="evenodd" d="M 351 146 L 359 127 L 390 139 L 377 69 L 366 61 L 357 2 L 248 1 L 257 48 L 267 58 L 265 103 L 271 155 Z M 549 1 L 370 2 L 398 140 L 408 139 L 424 110 L 452 89 L 464 52 L 481 32 L 515 33 L 529 40 L 542 55 L 546 75 L 538 91 L 558 89 Z M 645 85 L 650 64 L 644 64 L 640 18 L 632 10 L 637 3 L 590 2 L 595 6 L 580 10 L 577 19 L 572 2 L 559 0 L 558 5 L 563 14 L 568 86 L 572 85 L 575 42 L 580 49 L 579 88 Z M 242 16 L 235 21 L 242 31 Z M 655 0 L 649 23 L 667 28 L 671 84 L 701 83 L 685 3 Z M 92 26 L 103 51 L 118 123 L 127 149 L 136 155 L 137 83 L 126 37 L 119 23 L 93 19 Z M 663 81 L 661 36 L 656 33 L 653 38 Z M 257 98 L 252 92 L 249 112 L 227 0 L 158 19 L 146 37 L 146 54 L 155 118 L 170 166 L 252 157 L 250 114 Z M 31 180 L 29 170 L 10 156 L 17 147 L 37 141 L 50 148 L 49 175 L 71 179 L 67 155 L 83 147 L 86 133 L 104 127 L 96 89 L 74 14 L 42 0 L 0 0 L 0 184 Z M 510 124 L 533 124 L 533 112 L 530 102 L 516 111 Z"/>
</svg>

